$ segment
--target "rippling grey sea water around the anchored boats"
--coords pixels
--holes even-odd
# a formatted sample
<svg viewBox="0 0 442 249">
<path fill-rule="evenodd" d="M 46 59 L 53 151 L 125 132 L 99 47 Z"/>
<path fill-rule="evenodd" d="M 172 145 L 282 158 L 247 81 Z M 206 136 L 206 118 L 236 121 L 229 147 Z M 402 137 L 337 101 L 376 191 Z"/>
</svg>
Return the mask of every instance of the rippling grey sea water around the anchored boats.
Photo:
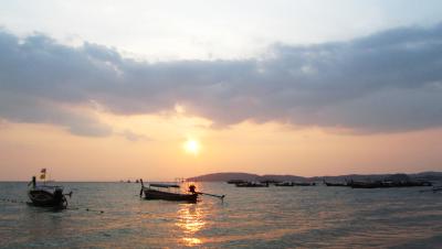
<svg viewBox="0 0 442 249">
<path fill-rule="evenodd" d="M 442 248 L 442 193 L 419 187 L 199 183 L 224 202 L 180 204 L 140 199 L 135 183 L 63 185 L 74 195 L 62 212 L 0 201 L 0 247 Z M 27 201 L 25 192 L 25 183 L 0 183 L 0 198 Z"/>
</svg>

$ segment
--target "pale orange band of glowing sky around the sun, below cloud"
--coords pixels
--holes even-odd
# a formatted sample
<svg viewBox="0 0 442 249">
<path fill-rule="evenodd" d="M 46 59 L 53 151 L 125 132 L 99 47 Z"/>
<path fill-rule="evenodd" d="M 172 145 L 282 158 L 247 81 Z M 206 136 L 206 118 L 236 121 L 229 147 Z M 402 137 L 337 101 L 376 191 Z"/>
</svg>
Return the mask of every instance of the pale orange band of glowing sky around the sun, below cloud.
<svg viewBox="0 0 442 249">
<path fill-rule="evenodd" d="M 314 176 L 441 169 L 442 129 L 351 134 L 253 122 L 213 129 L 206 119 L 182 115 L 97 115 L 113 126 L 113 136 L 78 137 L 50 124 L 4 122 L 0 129 L 1 180 L 24 181 L 42 167 L 57 181 L 170 181 L 213 172 Z M 127 130 L 134 136 L 127 137 Z"/>
</svg>

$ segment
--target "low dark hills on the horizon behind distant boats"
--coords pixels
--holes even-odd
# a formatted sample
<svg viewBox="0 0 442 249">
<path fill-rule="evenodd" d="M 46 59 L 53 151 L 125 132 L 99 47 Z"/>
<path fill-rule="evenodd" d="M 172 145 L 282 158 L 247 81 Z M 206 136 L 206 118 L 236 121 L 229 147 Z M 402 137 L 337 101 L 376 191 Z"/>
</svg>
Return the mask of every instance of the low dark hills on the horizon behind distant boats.
<svg viewBox="0 0 442 249">
<path fill-rule="evenodd" d="M 385 180 L 385 178 L 414 178 L 422 181 L 434 181 L 442 182 L 442 172 L 421 172 L 415 174 L 349 174 L 349 175 L 336 175 L 336 176 L 314 176 L 314 177 L 303 177 L 297 175 L 257 175 L 249 174 L 242 172 L 223 172 L 223 173 L 212 173 L 200 176 L 194 176 L 188 178 L 188 181 L 194 182 L 227 182 L 229 180 L 243 180 L 243 181 L 291 181 L 291 182 L 322 182 L 324 178 L 328 182 L 345 182 L 346 180 L 354 181 L 366 181 L 366 180 Z"/>
</svg>

